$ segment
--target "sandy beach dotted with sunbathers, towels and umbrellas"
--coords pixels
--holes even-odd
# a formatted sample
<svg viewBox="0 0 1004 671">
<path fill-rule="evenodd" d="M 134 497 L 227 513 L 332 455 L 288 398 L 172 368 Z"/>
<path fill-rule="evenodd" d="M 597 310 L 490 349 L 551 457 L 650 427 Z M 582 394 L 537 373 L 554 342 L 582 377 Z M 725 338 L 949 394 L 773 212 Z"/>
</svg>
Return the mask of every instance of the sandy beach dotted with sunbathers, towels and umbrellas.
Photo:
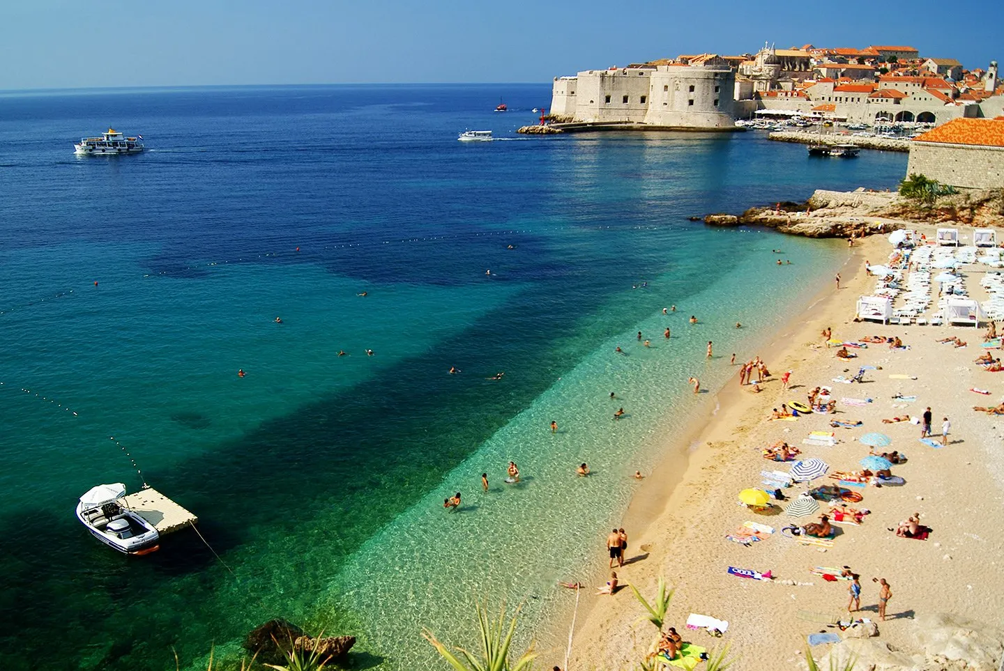
<svg viewBox="0 0 1004 671">
<path fill-rule="evenodd" d="M 908 227 L 934 237 L 934 227 Z M 999 451 L 1004 417 L 974 412 L 972 406 L 1000 402 L 1004 391 L 1000 375 L 1004 374 L 986 372 L 973 363 L 987 351 L 981 347 L 985 328 L 853 322 L 856 299 L 870 295 L 875 284 L 875 278 L 864 272 L 865 260 L 882 263 L 891 252 L 885 236 L 860 241 L 848 250 L 839 290 L 826 278 L 820 297 L 804 314 L 793 316 L 763 352 L 747 353 L 745 358 L 762 356 L 773 374 L 761 385 L 762 392 L 739 385 L 739 360 L 744 360 L 740 354 L 737 376 L 711 399 L 712 416 L 695 421 L 695 435 L 671 441 L 677 448 L 667 448 L 666 461 L 648 475 L 624 516 L 622 526 L 631 546 L 625 555 L 629 563 L 618 570 L 621 583 L 631 583 L 651 597 L 658 579 L 665 578 L 676 589 L 666 626 L 676 627 L 685 641 L 695 645 L 720 648 L 728 644 L 730 656 L 739 658 L 733 668 L 797 668 L 804 662 L 806 636 L 841 634 L 837 628 L 805 618 L 806 612 L 847 618 L 849 583 L 828 582 L 810 571 L 842 566 L 860 575 L 861 610 L 852 616 L 875 622 L 878 636 L 818 645 L 812 648 L 816 659 L 836 647 L 834 654 L 841 658 L 853 651 L 860 658 L 858 668 L 997 668 L 1004 640 L 1000 626 L 1004 541 L 998 533 L 1004 527 L 1004 455 Z M 963 271 L 970 295 L 985 298 L 979 282 L 987 268 Z M 851 350 L 857 357 L 844 361 L 820 337 L 826 327 L 832 328 L 834 339 L 844 341 L 865 335 L 899 336 L 909 349 L 871 344 Z M 952 335 L 968 346 L 937 342 Z M 723 343 L 719 348 L 716 343 L 719 356 L 727 347 Z M 832 381 L 854 375 L 861 366 L 875 367 L 865 371 L 861 383 Z M 784 390 L 780 375 L 787 370 L 792 373 L 789 390 Z M 835 414 L 769 420 L 772 408 L 791 400 L 804 403 L 808 391 L 820 385 L 834 387 Z M 971 387 L 991 394 L 975 393 Z M 894 398 L 898 394 L 916 396 L 916 400 Z M 841 398 L 871 401 L 857 405 Z M 945 447 L 920 442 L 917 424 L 882 421 L 904 414 L 920 416 L 927 406 L 932 408 L 933 430 L 939 439 L 943 417 L 951 421 Z M 834 419 L 862 424 L 834 428 L 830 426 Z M 837 442 L 833 446 L 802 444 L 811 431 L 833 431 Z M 817 521 L 820 513 L 828 511 L 825 502 L 820 502 L 818 513 L 798 520 L 783 509 L 775 509 L 779 513 L 775 515 L 758 515 L 738 504 L 741 489 L 765 486 L 761 470 L 787 471 L 791 465 L 765 460 L 764 447 L 783 440 L 801 448 L 802 458 L 823 459 L 831 472 L 849 471 L 859 469 L 859 459 L 868 454 L 869 448 L 857 439 L 873 431 L 892 438 L 892 444 L 878 451 L 897 449 L 909 457 L 907 463 L 892 469 L 906 483 L 848 487 L 862 496 L 853 506 L 870 514 L 859 526 L 837 526 L 831 547 L 803 546 L 780 533 L 787 525 Z M 686 453 L 679 448 L 682 439 L 696 445 L 686 459 L 680 456 Z M 788 500 L 780 506 L 811 486 L 836 483 L 826 476 L 796 482 L 783 490 Z M 889 531 L 914 513 L 920 513 L 921 524 L 933 530 L 928 540 L 898 538 Z M 747 521 L 769 525 L 775 533 L 749 547 L 726 539 Z M 600 537 L 596 539 L 597 577 L 606 574 L 602 551 Z M 773 580 L 742 579 L 727 573 L 729 567 L 769 571 Z M 878 585 L 872 578 L 885 578 L 892 586 L 885 622 L 877 621 Z M 631 590 L 612 597 L 584 590 L 581 597 L 566 671 L 636 668 L 654 639 L 655 628 L 639 620 L 643 609 Z M 703 630 L 687 630 L 691 613 L 726 620 L 728 631 L 722 638 L 713 638 Z M 563 623 L 566 632 L 570 619 L 569 614 Z M 564 664 L 564 649 L 552 649 L 543 661 L 550 668 Z M 968 660 L 970 666 L 953 659 Z"/>
</svg>

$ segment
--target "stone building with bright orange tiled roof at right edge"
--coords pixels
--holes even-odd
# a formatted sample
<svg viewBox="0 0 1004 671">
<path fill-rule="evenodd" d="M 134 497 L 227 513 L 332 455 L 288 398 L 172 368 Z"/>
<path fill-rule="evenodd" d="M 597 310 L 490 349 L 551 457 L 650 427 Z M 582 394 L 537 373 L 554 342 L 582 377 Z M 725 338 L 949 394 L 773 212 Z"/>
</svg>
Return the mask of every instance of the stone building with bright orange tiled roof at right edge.
<svg viewBox="0 0 1004 671">
<path fill-rule="evenodd" d="M 915 138 L 907 175 L 964 189 L 1004 188 L 1004 120 L 957 118 Z"/>
</svg>

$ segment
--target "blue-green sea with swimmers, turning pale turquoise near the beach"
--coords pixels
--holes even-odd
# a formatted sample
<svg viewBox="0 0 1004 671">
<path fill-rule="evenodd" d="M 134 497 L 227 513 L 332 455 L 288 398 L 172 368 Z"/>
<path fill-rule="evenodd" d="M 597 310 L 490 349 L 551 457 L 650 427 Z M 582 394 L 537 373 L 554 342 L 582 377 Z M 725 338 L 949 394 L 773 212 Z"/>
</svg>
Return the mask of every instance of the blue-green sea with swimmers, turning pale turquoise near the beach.
<svg viewBox="0 0 1004 671">
<path fill-rule="evenodd" d="M 688 218 L 895 188 L 907 155 L 517 135 L 549 98 L 0 93 L 0 667 L 227 668 L 283 618 L 355 636 L 352 668 L 445 669 L 424 630 L 472 646 L 474 603 L 505 602 L 523 643 L 571 608 L 559 581 L 600 580 L 631 474 L 712 403 L 688 378 L 720 388 L 847 254 Z M 109 126 L 147 150 L 73 154 Z M 100 545 L 73 510 L 104 482 L 199 534 Z"/>
</svg>

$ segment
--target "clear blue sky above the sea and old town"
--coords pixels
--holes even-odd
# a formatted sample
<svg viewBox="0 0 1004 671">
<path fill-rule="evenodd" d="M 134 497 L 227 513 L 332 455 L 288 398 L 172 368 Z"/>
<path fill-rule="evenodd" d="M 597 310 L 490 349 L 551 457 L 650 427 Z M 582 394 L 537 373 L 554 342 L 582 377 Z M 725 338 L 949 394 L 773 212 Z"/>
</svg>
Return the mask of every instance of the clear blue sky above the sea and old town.
<svg viewBox="0 0 1004 671">
<path fill-rule="evenodd" d="M 972 68 L 1004 58 L 1002 19 L 999 0 L 2 0 L 0 89 L 547 82 L 764 40 L 909 44 Z"/>
</svg>

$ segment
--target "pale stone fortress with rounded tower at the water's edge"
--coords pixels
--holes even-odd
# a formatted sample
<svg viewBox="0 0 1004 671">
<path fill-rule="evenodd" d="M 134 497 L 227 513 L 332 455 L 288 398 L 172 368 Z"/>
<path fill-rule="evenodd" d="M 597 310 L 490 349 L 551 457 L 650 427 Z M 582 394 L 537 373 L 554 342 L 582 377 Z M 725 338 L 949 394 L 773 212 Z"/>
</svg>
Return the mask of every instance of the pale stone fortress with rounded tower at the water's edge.
<svg viewBox="0 0 1004 671">
<path fill-rule="evenodd" d="M 583 123 L 735 130 L 735 75 L 713 54 L 690 64 L 641 64 L 555 77 L 551 112 Z"/>
</svg>

